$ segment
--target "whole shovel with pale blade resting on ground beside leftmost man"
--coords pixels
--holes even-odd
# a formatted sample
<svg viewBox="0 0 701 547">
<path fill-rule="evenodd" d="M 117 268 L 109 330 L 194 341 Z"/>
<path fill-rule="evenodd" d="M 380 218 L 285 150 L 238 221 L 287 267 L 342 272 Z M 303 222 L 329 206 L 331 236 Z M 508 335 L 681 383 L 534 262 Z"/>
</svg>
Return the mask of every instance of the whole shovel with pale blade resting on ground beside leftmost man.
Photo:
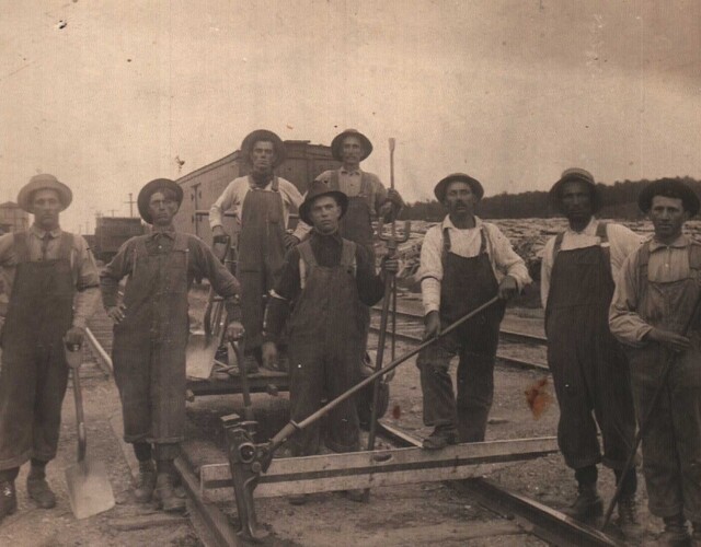
<svg viewBox="0 0 701 547">
<path fill-rule="evenodd" d="M 114 507 L 112 485 L 102 462 L 85 454 L 85 420 L 83 417 L 83 398 L 80 391 L 80 363 L 82 352 L 79 347 L 66 347 L 66 360 L 73 376 L 73 394 L 76 396 L 76 417 L 78 418 L 78 463 L 66 469 L 68 498 L 76 519 L 85 519 Z"/>
</svg>

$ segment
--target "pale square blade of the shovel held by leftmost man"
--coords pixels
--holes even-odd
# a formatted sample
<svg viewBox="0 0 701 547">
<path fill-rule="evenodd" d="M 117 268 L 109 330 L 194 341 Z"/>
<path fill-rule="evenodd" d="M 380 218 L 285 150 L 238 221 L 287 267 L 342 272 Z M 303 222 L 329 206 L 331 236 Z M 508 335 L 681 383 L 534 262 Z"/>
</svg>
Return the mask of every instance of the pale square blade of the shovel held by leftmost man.
<svg viewBox="0 0 701 547">
<path fill-rule="evenodd" d="M 114 507 L 114 493 L 102 462 L 85 457 L 66 469 L 68 499 L 76 519 L 87 519 Z"/>
</svg>

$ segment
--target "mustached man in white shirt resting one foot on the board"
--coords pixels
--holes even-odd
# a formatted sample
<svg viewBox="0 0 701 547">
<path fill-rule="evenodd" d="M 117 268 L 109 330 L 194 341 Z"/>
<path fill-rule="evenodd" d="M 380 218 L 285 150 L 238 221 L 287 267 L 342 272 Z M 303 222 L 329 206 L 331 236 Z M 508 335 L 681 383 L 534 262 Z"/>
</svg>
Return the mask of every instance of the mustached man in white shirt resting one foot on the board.
<svg viewBox="0 0 701 547">
<path fill-rule="evenodd" d="M 492 298 L 501 299 L 418 354 L 424 423 L 434 427 L 424 447 L 439 450 L 458 441 L 484 440 L 505 301 L 531 280 L 524 259 L 499 229 L 474 214 L 484 194 L 479 181 L 453 173 L 436 185 L 434 194 L 448 214 L 426 232 L 421 249 L 425 337 L 438 335 Z M 460 357 L 457 401 L 448 374 L 456 354 Z"/>
</svg>

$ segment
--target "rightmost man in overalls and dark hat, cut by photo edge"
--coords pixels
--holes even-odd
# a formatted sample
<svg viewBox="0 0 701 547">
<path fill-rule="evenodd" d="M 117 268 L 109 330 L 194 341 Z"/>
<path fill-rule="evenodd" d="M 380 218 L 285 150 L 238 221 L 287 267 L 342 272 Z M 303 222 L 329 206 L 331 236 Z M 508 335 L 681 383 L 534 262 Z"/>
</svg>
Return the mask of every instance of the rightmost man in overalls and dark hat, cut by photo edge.
<svg viewBox="0 0 701 547">
<path fill-rule="evenodd" d="M 659 545 L 701 545 L 701 245 L 683 234 L 699 198 L 678 179 L 646 186 L 637 201 L 655 228 L 621 268 L 609 312 L 625 345 L 639 423 L 650 512 L 665 522 Z M 685 327 L 690 323 L 688 331 Z M 674 357 L 668 375 L 662 371 Z M 662 385 L 654 407 L 653 394 Z"/>
</svg>

